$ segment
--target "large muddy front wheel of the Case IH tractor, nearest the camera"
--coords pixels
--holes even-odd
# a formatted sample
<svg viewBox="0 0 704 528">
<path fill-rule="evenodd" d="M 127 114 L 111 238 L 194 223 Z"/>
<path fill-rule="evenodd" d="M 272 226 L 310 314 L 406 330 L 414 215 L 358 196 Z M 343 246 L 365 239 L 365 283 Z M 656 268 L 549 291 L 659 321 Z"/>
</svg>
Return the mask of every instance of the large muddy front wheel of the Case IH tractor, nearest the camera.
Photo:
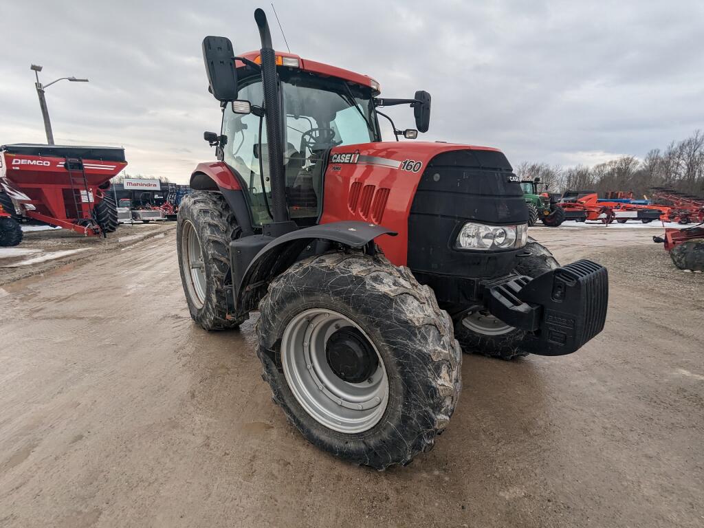
<svg viewBox="0 0 704 528">
<path fill-rule="evenodd" d="M 377 470 L 433 447 L 458 401 L 462 353 L 410 270 L 380 255 L 307 258 L 259 310 L 262 377 L 311 444 Z"/>
</svg>

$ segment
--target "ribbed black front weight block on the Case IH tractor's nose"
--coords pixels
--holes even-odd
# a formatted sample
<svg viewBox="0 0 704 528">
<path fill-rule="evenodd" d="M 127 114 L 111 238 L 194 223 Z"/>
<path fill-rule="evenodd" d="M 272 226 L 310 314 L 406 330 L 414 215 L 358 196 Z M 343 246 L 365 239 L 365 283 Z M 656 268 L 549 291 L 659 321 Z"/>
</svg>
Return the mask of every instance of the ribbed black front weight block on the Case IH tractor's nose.
<svg viewBox="0 0 704 528">
<path fill-rule="evenodd" d="M 577 260 L 535 279 L 516 277 L 486 291 L 492 315 L 527 330 L 522 348 L 539 356 L 579 350 L 601 332 L 608 305 L 606 268 Z"/>
</svg>

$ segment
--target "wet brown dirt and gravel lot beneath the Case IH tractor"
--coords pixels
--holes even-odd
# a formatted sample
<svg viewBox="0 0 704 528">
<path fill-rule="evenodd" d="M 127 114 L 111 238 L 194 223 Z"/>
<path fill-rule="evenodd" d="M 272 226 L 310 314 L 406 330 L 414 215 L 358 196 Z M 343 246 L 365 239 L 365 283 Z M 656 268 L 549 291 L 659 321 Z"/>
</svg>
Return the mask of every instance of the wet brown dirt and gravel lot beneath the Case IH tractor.
<svg viewBox="0 0 704 528">
<path fill-rule="evenodd" d="M 191 323 L 173 231 L 9 282 L 0 526 L 701 527 L 704 275 L 657 232 L 532 230 L 608 266 L 605 331 L 562 358 L 465 356 L 434 451 L 383 473 L 287 424 L 255 318 Z"/>
</svg>

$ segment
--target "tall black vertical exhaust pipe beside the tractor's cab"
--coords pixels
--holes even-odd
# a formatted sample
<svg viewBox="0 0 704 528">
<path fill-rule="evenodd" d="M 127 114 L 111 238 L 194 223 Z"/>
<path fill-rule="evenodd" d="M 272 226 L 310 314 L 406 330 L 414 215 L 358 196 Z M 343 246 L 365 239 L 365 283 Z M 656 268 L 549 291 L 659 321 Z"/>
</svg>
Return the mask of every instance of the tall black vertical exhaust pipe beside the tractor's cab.
<svg viewBox="0 0 704 528">
<path fill-rule="evenodd" d="M 271 178 L 272 215 L 274 222 L 287 222 L 286 179 L 284 177 L 283 116 L 279 98 L 279 76 L 276 73 L 276 54 L 272 47 L 271 32 L 262 9 L 254 11 L 262 42 L 260 49 L 266 134 L 269 150 L 269 176 Z M 259 154 L 261 156 L 261 153 Z M 264 190 L 264 189 L 263 189 Z"/>
</svg>

